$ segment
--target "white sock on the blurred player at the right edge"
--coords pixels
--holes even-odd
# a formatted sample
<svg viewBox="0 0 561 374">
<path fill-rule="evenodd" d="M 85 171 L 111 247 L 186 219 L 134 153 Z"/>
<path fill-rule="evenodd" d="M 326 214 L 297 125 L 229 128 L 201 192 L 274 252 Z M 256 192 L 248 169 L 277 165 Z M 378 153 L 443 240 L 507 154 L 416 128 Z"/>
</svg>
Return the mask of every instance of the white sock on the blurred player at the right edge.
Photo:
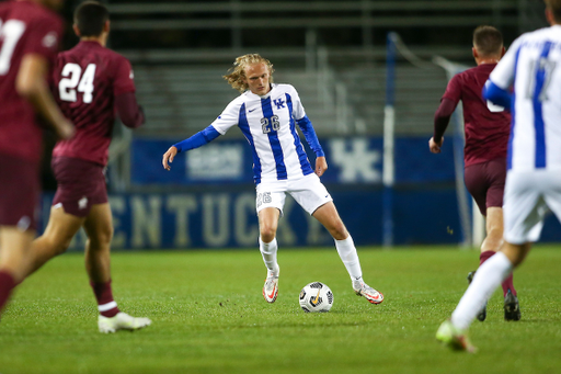
<svg viewBox="0 0 561 374">
<path fill-rule="evenodd" d="M 467 329 L 512 271 L 513 264 L 503 252 L 496 252 L 479 267 L 473 281 L 451 314 L 453 325 L 458 329 Z"/>
</svg>

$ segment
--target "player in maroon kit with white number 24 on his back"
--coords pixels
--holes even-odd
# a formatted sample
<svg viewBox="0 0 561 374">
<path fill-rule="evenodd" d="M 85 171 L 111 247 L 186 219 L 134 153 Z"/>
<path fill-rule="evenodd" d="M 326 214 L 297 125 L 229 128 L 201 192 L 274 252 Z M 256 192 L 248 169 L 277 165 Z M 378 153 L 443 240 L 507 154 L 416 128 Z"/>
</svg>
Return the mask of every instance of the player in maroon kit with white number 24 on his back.
<svg viewBox="0 0 561 374">
<path fill-rule="evenodd" d="M 82 2 L 75 12 L 80 43 L 58 55 L 54 73 L 57 101 L 76 124 L 76 136 L 58 141 L 53 150 L 53 171 L 58 188 L 43 236 L 33 242 L 32 273 L 66 251 L 83 227 L 85 269 L 98 299 L 101 332 L 134 330 L 150 325 L 119 311 L 111 288 L 110 251 L 113 236 L 111 207 L 105 186 L 105 166 L 115 122 L 115 107 L 123 123 L 138 127 L 144 114 L 135 98 L 128 60 L 105 48 L 110 32 L 107 9 Z"/>
</svg>

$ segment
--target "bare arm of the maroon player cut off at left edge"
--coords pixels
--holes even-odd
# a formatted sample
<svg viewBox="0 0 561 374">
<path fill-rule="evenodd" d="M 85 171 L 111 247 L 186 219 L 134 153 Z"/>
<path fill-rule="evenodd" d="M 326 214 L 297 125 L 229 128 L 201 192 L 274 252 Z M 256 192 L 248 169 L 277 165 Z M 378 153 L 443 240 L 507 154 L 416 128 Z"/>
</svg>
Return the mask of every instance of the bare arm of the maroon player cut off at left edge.
<svg viewBox="0 0 561 374">
<path fill-rule="evenodd" d="M 68 121 L 55 102 L 47 84 L 47 60 L 35 54 L 23 57 L 15 89 L 39 113 L 60 139 L 69 139 L 75 135 L 75 126 Z"/>
</svg>

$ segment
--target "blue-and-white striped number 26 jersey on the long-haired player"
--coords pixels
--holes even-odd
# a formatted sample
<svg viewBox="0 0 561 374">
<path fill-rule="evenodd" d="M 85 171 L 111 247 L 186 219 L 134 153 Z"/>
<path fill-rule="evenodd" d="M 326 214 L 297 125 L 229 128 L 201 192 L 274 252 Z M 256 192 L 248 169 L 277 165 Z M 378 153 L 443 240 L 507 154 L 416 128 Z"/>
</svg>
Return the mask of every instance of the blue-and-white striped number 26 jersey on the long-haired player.
<svg viewBox="0 0 561 374">
<path fill-rule="evenodd" d="M 290 84 L 271 84 L 266 95 L 245 91 L 232 100 L 211 126 L 221 135 L 240 127 L 253 151 L 255 184 L 298 179 L 313 172 L 296 124 L 316 156 L 323 156 L 298 92 Z"/>
</svg>

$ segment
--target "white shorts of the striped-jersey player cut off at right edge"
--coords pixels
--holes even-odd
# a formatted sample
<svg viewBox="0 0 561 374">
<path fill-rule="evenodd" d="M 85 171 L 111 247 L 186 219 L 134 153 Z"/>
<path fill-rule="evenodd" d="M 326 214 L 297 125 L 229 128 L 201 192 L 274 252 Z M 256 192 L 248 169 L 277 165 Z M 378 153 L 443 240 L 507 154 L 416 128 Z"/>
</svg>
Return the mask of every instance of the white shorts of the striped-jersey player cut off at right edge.
<svg viewBox="0 0 561 374">
<path fill-rule="evenodd" d="M 561 222 L 561 170 L 508 171 L 503 204 L 506 241 L 537 241 L 548 208 Z"/>
</svg>

